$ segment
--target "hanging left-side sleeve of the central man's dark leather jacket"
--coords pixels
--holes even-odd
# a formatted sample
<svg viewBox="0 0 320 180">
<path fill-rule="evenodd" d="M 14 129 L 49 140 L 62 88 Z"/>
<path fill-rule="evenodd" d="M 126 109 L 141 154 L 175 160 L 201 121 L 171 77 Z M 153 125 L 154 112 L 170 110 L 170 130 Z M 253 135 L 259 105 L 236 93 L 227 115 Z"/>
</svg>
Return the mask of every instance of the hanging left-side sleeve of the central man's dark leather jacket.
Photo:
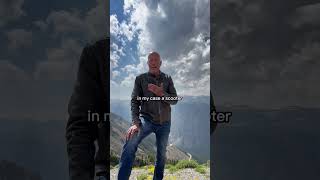
<svg viewBox="0 0 320 180">
<path fill-rule="evenodd" d="M 138 96 L 142 96 L 141 82 L 139 76 L 136 77 L 134 81 L 134 87 L 131 94 L 131 117 L 133 124 L 140 124 L 141 120 L 139 118 L 141 100 L 137 100 Z"/>
</svg>

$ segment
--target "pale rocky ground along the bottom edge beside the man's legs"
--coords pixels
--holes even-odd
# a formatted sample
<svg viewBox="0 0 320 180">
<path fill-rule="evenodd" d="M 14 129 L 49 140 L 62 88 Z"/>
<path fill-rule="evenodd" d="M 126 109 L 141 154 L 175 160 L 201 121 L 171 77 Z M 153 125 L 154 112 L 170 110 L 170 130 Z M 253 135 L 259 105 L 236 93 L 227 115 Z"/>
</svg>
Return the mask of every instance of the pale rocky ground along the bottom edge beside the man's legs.
<svg viewBox="0 0 320 180">
<path fill-rule="evenodd" d="M 117 180 L 118 169 L 114 168 L 110 172 L 111 180 Z M 152 174 L 149 173 L 146 169 L 133 169 L 131 172 L 130 180 L 137 180 L 138 176 L 148 175 L 146 180 L 152 179 Z M 174 173 L 170 173 L 168 169 L 165 170 L 164 180 L 209 180 L 210 179 L 210 169 L 206 168 L 205 174 L 200 174 L 194 169 L 186 168 L 178 170 Z"/>
</svg>

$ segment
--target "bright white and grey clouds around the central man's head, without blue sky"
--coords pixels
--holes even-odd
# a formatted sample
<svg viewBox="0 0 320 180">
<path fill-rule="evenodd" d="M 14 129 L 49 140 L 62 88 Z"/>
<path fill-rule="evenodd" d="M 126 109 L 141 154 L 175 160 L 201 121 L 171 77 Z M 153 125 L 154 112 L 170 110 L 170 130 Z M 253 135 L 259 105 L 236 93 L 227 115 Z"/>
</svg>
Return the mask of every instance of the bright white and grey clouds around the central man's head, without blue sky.
<svg viewBox="0 0 320 180">
<path fill-rule="evenodd" d="M 173 77 L 180 95 L 209 95 L 209 1 L 146 2 L 125 0 L 123 9 L 128 18 L 119 22 L 115 15 L 111 17 L 115 36 L 122 34 L 131 40 L 136 35 L 138 40 L 138 63 L 121 68 L 128 76 L 119 85 L 132 86 L 134 77 L 147 71 L 147 54 L 158 51 L 163 60 L 161 70 Z"/>
</svg>

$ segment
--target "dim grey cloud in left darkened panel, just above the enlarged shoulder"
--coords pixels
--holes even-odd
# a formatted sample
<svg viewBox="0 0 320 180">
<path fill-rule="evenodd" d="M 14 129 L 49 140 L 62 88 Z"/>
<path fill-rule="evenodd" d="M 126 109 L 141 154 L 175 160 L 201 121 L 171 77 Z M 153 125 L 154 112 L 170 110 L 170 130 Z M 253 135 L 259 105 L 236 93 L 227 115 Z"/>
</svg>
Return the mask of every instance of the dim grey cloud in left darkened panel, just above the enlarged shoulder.
<svg viewBox="0 0 320 180">
<path fill-rule="evenodd" d="M 106 1 L 97 1 L 97 5 L 87 12 L 78 9 L 52 11 L 45 20 L 33 23 L 44 31 L 51 27 L 55 36 L 75 35 L 78 39 L 93 42 L 109 34 L 107 6 Z"/>
</svg>

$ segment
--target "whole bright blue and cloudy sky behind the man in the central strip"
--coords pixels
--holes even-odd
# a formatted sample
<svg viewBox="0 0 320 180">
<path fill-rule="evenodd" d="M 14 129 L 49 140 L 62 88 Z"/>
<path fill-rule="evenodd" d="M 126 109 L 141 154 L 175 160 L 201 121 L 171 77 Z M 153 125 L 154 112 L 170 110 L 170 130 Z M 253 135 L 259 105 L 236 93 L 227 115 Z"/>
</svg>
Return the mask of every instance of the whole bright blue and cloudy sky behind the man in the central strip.
<svg viewBox="0 0 320 180">
<path fill-rule="evenodd" d="M 177 92 L 209 95 L 208 0 L 111 0 L 111 97 L 129 99 L 135 76 L 147 72 L 147 55 L 158 51 L 161 70 Z"/>
</svg>

